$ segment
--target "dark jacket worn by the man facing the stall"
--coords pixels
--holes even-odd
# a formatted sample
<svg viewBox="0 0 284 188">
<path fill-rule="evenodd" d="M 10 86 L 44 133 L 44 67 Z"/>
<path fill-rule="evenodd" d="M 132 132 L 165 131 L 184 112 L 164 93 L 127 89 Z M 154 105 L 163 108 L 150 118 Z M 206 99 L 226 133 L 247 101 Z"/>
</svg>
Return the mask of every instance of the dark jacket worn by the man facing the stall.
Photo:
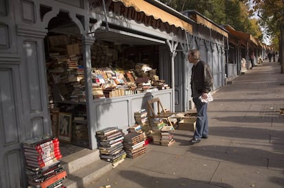
<svg viewBox="0 0 284 188">
<path fill-rule="evenodd" d="M 203 92 L 209 93 L 213 86 L 213 77 L 211 75 L 211 70 L 209 64 L 206 62 L 199 61 L 195 64 L 192 68 L 192 75 L 191 75 L 191 91 L 195 90 L 200 96 Z M 193 88 L 195 87 L 195 88 Z M 198 97 L 194 96 L 193 97 Z"/>
</svg>

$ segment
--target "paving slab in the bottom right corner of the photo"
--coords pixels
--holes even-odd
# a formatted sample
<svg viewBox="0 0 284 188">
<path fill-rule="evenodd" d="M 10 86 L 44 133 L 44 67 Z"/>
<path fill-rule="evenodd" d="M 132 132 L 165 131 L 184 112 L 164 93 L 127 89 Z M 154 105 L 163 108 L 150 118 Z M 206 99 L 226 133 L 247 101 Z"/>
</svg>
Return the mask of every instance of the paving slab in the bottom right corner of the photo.
<svg viewBox="0 0 284 188">
<path fill-rule="evenodd" d="M 235 188 L 243 187 L 283 187 L 283 172 L 250 165 L 220 163 L 213 178 L 214 185 L 226 183 Z M 220 185 L 221 186 L 221 185 Z"/>
</svg>

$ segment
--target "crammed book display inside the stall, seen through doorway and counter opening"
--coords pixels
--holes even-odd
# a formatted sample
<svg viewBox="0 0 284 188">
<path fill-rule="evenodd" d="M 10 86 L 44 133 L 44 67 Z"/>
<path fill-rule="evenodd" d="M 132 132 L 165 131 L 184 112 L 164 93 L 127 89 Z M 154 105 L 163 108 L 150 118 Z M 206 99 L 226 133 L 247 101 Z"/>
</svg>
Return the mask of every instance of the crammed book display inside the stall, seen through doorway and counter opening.
<svg viewBox="0 0 284 188">
<path fill-rule="evenodd" d="M 169 89 L 169 85 L 159 79 L 157 69 L 153 68 L 157 65 L 155 55 L 158 48 L 155 46 L 95 42 L 91 46 L 92 85 L 86 87 L 82 39 L 49 33 L 46 43 L 53 135 L 58 136 L 58 113 L 72 113 L 71 143 L 75 145 L 88 148 L 87 117 L 84 115 L 84 119 L 75 120 L 78 115 L 73 110 L 84 106 L 86 114 L 88 88 L 92 90 L 94 100 Z"/>
</svg>

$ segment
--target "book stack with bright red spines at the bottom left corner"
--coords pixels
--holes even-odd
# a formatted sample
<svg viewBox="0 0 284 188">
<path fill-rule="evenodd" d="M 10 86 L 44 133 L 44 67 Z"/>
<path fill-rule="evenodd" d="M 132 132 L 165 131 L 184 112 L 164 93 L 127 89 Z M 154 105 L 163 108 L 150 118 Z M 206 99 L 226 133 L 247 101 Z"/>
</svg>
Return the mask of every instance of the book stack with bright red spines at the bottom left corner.
<svg viewBox="0 0 284 188">
<path fill-rule="evenodd" d="M 62 157 L 58 138 L 41 136 L 22 144 L 29 187 L 64 187 L 67 173 L 58 161 Z"/>
</svg>

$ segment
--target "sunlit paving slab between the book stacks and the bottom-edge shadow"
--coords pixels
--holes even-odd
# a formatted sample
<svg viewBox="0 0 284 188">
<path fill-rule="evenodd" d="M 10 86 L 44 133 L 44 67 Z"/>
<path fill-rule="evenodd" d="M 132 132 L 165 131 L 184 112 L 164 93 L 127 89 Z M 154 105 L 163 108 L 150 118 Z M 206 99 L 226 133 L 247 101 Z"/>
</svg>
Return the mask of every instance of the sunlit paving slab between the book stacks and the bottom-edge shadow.
<svg viewBox="0 0 284 188">
<path fill-rule="evenodd" d="M 144 159 L 141 163 L 136 164 L 138 168 L 204 182 L 209 182 L 219 164 L 217 161 L 169 155 L 155 151 L 152 151 L 147 155 L 147 159 Z"/>
</svg>

